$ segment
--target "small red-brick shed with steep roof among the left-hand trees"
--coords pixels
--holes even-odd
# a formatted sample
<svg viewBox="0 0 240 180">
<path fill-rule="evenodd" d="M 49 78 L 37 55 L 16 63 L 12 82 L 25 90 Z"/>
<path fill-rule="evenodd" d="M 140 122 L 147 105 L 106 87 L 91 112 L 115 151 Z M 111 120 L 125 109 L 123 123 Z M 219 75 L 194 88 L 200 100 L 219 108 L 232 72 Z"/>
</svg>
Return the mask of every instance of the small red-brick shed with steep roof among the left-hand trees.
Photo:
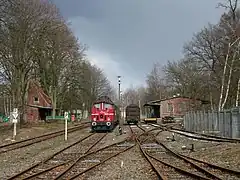
<svg viewBox="0 0 240 180">
<path fill-rule="evenodd" d="M 46 120 L 51 115 L 52 103 L 50 97 L 43 92 L 40 84 L 36 81 L 29 83 L 26 118 L 28 122 Z"/>
</svg>

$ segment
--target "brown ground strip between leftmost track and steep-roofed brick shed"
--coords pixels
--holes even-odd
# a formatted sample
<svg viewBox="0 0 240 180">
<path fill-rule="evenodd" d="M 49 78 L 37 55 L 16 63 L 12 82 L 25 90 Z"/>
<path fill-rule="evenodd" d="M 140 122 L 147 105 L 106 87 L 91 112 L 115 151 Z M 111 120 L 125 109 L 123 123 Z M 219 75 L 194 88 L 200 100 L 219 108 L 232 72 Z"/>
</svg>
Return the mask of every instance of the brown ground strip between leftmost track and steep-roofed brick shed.
<svg viewBox="0 0 240 180">
<path fill-rule="evenodd" d="M 68 127 L 73 127 L 75 124 L 78 123 L 68 123 Z M 23 127 L 21 129 L 17 128 L 17 136 L 16 140 L 23 140 L 35 136 L 40 136 L 45 133 L 58 131 L 58 130 L 64 130 L 64 123 L 39 123 L 39 124 L 32 124 L 28 127 Z M 11 128 L 10 125 L 8 126 L 1 126 L 0 131 L 0 144 L 7 144 L 10 143 L 13 136 L 13 127 Z"/>
</svg>

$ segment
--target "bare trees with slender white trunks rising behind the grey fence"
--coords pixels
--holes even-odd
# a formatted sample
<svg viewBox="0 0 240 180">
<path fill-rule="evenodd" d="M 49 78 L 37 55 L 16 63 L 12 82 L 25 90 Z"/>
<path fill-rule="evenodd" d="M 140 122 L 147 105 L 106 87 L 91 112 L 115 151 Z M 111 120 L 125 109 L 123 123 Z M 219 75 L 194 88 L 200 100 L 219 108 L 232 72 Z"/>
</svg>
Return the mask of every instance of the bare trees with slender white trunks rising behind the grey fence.
<svg viewBox="0 0 240 180">
<path fill-rule="evenodd" d="M 233 11 L 224 13 L 217 25 L 205 27 L 184 47 L 187 58 L 202 65 L 202 69 L 209 74 L 209 94 L 214 104 L 218 103 L 219 111 L 227 103 L 228 106 L 233 104 L 228 98 L 229 94 L 232 97 L 233 93 L 237 93 L 235 89 L 239 74 L 240 13 L 232 5 L 229 6 Z"/>
</svg>

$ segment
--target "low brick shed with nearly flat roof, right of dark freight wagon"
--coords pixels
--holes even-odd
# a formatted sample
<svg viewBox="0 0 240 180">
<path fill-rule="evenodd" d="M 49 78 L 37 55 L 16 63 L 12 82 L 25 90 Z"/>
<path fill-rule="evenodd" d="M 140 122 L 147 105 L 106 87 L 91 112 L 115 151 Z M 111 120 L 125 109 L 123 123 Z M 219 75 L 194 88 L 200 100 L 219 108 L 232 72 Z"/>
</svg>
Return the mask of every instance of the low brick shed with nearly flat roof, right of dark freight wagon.
<svg viewBox="0 0 240 180">
<path fill-rule="evenodd" d="M 183 117 L 186 112 L 199 109 L 203 104 L 208 104 L 208 102 L 183 96 L 163 99 L 161 100 L 160 116 Z"/>
</svg>

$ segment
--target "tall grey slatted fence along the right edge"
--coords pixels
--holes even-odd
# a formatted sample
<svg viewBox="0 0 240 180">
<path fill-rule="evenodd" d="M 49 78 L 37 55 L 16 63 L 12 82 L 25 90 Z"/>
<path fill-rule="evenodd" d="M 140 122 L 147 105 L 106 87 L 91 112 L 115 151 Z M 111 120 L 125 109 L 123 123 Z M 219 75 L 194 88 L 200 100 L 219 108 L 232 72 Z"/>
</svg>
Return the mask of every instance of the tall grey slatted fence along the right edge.
<svg viewBox="0 0 240 180">
<path fill-rule="evenodd" d="M 188 112 L 184 116 L 184 127 L 188 131 L 240 138 L 240 108 Z"/>
</svg>

